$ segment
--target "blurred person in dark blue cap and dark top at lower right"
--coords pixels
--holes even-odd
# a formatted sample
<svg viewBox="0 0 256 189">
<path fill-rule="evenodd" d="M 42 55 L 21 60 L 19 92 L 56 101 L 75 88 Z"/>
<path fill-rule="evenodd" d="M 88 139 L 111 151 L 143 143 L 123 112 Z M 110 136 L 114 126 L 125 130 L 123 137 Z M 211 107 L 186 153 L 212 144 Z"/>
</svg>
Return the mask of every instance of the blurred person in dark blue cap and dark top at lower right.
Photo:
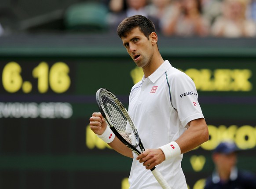
<svg viewBox="0 0 256 189">
<path fill-rule="evenodd" d="M 204 189 L 256 189 L 256 175 L 236 167 L 237 151 L 234 142 L 219 143 L 212 154 L 215 171 Z"/>
</svg>

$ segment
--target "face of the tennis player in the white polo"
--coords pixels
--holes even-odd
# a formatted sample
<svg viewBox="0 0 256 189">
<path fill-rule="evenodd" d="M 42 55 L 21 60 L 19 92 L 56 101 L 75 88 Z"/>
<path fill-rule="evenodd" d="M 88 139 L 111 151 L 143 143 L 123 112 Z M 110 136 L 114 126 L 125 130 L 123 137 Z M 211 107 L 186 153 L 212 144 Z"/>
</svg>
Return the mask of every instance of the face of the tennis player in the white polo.
<svg viewBox="0 0 256 189">
<path fill-rule="evenodd" d="M 138 67 L 145 68 L 153 57 L 154 43 L 152 43 L 151 35 L 152 33 L 148 39 L 137 27 L 121 38 L 128 54 Z"/>
</svg>

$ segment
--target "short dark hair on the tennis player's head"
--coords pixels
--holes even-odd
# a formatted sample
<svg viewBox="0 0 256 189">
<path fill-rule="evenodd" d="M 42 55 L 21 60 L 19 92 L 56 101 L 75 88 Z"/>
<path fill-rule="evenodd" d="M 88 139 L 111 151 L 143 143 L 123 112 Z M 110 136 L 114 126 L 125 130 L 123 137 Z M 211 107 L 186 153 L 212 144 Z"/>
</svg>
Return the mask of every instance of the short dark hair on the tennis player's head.
<svg viewBox="0 0 256 189">
<path fill-rule="evenodd" d="M 139 30 L 149 39 L 149 36 L 152 32 L 156 33 L 154 23 L 142 15 L 134 15 L 128 18 L 125 18 L 117 27 L 118 36 L 125 37 L 126 33 L 131 31 L 134 28 L 139 27 Z"/>
</svg>

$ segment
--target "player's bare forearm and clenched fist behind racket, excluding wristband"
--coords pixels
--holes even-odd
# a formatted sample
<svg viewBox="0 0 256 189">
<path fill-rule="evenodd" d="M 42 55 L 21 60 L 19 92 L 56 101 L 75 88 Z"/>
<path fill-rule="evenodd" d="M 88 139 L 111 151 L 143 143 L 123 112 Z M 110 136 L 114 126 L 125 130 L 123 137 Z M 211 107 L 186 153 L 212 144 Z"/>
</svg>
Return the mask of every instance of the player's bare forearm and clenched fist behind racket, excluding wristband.
<svg viewBox="0 0 256 189">
<path fill-rule="evenodd" d="M 103 118 L 101 113 L 93 113 L 90 117 L 90 128 L 91 130 L 98 135 L 101 135 L 106 130 L 107 123 Z M 117 137 L 113 139 L 112 142 L 108 143 L 111 148 L 116 150 L 118 153 L 121 153 L 124 156 L 133 158 L 132 150 L 124 145 Z"/>
</svg>

